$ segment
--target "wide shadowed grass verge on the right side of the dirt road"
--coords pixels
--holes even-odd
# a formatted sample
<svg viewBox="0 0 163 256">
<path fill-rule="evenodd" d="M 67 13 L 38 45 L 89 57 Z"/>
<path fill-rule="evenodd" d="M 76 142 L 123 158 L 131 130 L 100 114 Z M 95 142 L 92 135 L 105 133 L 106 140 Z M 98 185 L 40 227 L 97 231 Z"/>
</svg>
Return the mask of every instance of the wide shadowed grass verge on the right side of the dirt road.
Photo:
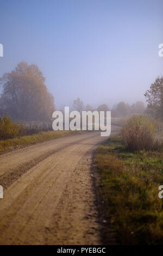
<svg viewBox="0 0 163 256">
<path fill-rule="evenodd" d="M 96 150 L 105 217 L 123 245 L 163 245 L 163 153 L 124 149 L 112 137 Z"/>
</svg>

